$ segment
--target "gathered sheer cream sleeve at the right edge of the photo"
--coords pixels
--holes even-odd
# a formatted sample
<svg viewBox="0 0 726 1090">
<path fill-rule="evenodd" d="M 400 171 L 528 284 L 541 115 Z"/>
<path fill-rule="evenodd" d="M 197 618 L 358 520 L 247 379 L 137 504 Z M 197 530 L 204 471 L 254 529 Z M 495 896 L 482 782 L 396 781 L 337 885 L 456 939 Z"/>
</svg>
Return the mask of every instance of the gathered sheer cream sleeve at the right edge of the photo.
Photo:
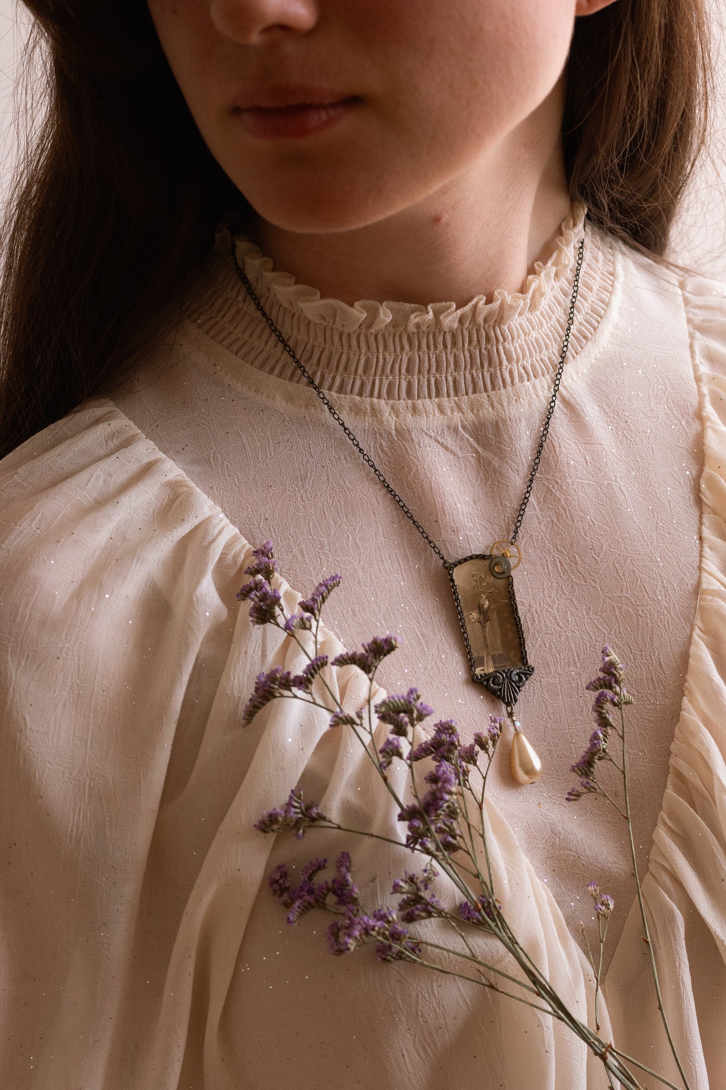
<svg viewBox="0 0 726 1090">
<path fill-rule="evenodd" d="M 703 419 L 701 582 L 643 895 L 676 1045 L 692 1090 L 713 1090 L 726 1071 L 726 284 L 689 278 L 682 294 Z M 679 1085 L 641 935 L 633 906 L 605 984 L 613 1029 L 631 1055 L 663 1042 L 654 1067 Z"/>
</svg>

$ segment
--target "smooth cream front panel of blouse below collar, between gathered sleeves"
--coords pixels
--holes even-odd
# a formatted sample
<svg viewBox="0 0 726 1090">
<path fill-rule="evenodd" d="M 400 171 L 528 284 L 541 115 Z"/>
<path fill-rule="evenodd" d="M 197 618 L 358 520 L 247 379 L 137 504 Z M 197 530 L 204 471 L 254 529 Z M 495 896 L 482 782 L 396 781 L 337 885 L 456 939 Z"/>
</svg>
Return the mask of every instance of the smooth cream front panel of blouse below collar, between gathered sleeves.
<svg viewBox="0 0 726 1090">
<path fill-rule="evenodd" d="M 636 699 L 631 778 L 645 865 L 700 556 L 702 436 L 688 348 L 657 328 L 641 326 L 636 337 L 631 322 L 563 384 L 518 536 L 515 590 L 534 673 L 517 714 L 544 775 L 519 787 L 500 756 L 491 785 L 570 931 L 579 931 L 591 879 L 615 897 L 612 938 L 633 894 L 622 819 L 601 799 L 565 802 L 569 766 L 592 729 L 583 686 L 611 643 Z M 470 740 L 502 707 L 470 679 L 447 574 L 323 407 L 298 392 L 297 402 L 261 396 L 226 368 L 188 363 L 118 403 L 248 541 L 273 540 L 294 588 L 307 593 L 340 572 L 328 627 L 346 646 L 396 632 L 402 646 L 381 682 L 389 691 L 416 685 L 436 717 L 456 719 Z M 457 559 L 510 536 L 550 392 L 546 384 L 514 388 L 462 411 L 339 408 L 414 518 Z"/>
</svg>

